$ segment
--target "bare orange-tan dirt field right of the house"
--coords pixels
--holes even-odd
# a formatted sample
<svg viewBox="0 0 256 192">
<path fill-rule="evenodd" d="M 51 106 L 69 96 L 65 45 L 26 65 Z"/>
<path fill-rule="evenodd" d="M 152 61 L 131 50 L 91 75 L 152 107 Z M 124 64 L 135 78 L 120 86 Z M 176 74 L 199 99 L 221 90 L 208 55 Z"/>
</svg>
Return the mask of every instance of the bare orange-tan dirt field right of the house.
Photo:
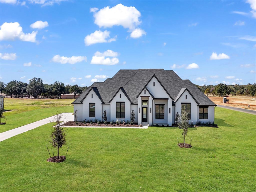
<svg viewBox="0 0 256 192">
<path fill-rule="evenodd" d="M 231 107 L 239 107 L 243 109 L 256 110 L 256 97 L 229 96 L 227 97 L 227 99 L 229 100 L 229 103 L 223 103 L 223 97 L 213 97 L 212 95 L 208 95 L 208 97 L 216 105 L 225 105 L 225 106 L 231 106 Z M 250 108 L 248 107 L 248 105 L 250 105 Z"/>
</svg>

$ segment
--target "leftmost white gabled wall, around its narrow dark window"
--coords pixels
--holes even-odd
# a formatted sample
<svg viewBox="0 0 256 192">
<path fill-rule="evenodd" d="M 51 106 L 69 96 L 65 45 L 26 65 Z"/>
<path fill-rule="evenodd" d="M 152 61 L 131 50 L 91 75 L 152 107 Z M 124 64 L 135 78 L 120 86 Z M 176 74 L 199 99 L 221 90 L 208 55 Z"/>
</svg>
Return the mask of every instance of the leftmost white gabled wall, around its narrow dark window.
<svg viewBox="0 0 256 192">
<path fill-rule="evenodd" d="M 92 94 L 92 97 L 91 97 Z M 95 118 L 89 117 L 89 103 L 95 103 Z M 101 121 L 102 119 L 102 104 L 101 100 L 99 97 L 96 95 L 96 93 L 93 91 L 93 89 L 89 92 L 87 97 L 83 100 L 83 115 L 82 115 L 82 120 L 86 119 L 90 120 L 92 119 L 93 121 L 95 119 L 98 119 Z"/>
</svg>

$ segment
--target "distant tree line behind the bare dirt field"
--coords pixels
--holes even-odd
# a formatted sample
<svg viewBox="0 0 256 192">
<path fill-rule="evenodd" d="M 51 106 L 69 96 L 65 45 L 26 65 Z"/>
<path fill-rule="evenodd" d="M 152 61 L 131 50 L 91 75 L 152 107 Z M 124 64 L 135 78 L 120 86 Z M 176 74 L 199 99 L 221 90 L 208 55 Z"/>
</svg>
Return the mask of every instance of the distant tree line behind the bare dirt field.
<svg viewBox="0 0 256 192">
<path fill-rule="evenodd" d="M 220 83 L 218 85 L 195 85 L 203 93 L 216 96 L 238 95 L 238 96 L 256 96 L 256 83 L 247 85 L 226 85 Z"/>
</svg>

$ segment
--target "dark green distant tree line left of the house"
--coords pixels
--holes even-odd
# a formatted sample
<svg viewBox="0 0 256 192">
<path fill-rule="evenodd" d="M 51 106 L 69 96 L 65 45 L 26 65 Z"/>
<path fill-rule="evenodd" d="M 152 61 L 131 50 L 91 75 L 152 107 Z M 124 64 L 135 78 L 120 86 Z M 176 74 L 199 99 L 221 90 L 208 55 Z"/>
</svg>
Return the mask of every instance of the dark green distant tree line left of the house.
<svg viewBox="0 0 256 192">
<path fill-rule="evenodd" d="M 0 81 L 0 93 L 10 95 L 15 98 L 55 98 L 60 99 L 61 95 L 74 93 L 74 98 L 77 94 L 82 94 L 88 87 L 79 87 L 78 85 L 64 85 L 64 83 L 55 81 L 52 84 L 44 84 L 41 78 L 34 77 L 29 80 L 29 83 L 22 81 L 10 81 L 5 84 Z"/>
</svg>

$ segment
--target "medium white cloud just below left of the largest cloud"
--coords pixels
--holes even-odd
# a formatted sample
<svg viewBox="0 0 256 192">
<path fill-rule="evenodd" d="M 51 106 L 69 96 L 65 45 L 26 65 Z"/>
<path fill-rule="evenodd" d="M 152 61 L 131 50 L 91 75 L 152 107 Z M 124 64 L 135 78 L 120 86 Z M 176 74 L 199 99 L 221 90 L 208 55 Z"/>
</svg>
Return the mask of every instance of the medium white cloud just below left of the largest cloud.
<svg viewBox="0 0 256 192">
<path fill-rule="evenodd" d="M 84 38 L 84 43 L 86 46 L 95 44 L 95 43 L 110 43 L 112 41 L 116 40 L 115 38 L 109 38 L 110 31 L 101 31 L 101 30 L 96 30 L 94 33 L 91 33 L 90 35 L 87 35 Z"/>
</svg>

